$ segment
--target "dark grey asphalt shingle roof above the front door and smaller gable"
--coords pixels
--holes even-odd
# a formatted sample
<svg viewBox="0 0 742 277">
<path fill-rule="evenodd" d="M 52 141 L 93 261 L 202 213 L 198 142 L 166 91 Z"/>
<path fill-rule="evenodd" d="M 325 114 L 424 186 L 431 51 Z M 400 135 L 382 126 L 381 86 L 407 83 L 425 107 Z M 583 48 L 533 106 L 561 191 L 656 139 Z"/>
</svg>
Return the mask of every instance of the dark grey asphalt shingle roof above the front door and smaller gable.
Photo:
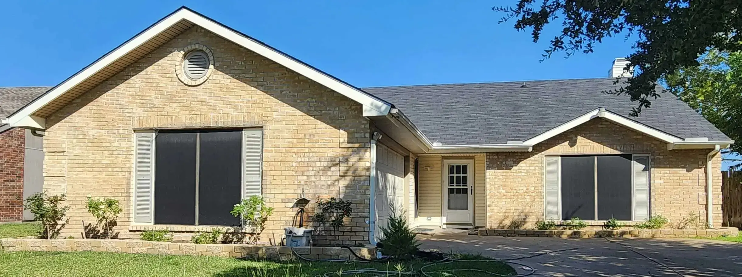
<svg viewBox="0 0 742 277">
<path fill-rule="evenodd" d="M 365 87 L 390 101 L 433 142 L 444 145 L 504 144 L 525 141 L 598 107 L 628 116 L 637 102 L 603 93 L 615 79 L 508 81 Z M 525 83 L 525 87 L 522 87 Z M 680 137 L 729 140 L 713 124 L 669 93 L 630 118 Z"/>
</svg>

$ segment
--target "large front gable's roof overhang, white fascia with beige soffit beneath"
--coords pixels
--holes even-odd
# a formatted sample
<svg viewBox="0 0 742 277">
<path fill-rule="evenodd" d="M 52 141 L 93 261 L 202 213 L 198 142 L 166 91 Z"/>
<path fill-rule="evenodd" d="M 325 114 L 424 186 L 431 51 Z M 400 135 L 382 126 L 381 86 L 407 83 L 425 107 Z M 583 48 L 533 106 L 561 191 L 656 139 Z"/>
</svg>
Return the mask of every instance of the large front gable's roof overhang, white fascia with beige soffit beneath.
<svg viewBox="0 0 742 277">
<path fill-rule="evenodd" d="M 364 116 L 386 116 L 392 108 L 389 102 L 299 61 L 262 41 L 226 27 L 188 7 L 180 7 L 25 105 L 13 113 L 7 121 L 11 126 L 44 129 L 45 117 L 195 25 L 363 104 Z"/>
</svg>

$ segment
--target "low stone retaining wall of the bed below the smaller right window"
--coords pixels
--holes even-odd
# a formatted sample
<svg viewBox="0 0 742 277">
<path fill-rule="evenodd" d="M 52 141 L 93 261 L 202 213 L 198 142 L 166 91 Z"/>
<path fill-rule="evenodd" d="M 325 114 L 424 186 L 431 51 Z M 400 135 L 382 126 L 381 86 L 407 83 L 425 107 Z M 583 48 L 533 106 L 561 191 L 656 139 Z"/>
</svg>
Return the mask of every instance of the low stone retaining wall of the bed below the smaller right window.
<svg viewBox="0 0 742 277">
<path fill-rule="evenodd" d="M 711 238 L 737 236 L 735 227 L 707 230 L 511 230 L 479 229 L 479 236 L 536 236 L 558 238 Z"/>
</svg>

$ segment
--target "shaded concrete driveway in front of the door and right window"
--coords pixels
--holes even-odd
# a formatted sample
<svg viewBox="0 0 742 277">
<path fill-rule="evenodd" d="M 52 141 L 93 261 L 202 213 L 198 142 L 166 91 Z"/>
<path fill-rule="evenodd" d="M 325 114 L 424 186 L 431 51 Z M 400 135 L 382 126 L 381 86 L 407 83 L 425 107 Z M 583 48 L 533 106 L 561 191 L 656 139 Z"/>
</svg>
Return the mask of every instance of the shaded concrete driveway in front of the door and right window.
<svg viewBox="0 0 742 277">
<path fill-rule="evenodd" d="M 533 276 L 742 276 L 742 244 L 673 238 L 528 238 L 446 232 L 420 236 L 423 249 L 516 260 Z M 516 268 L 516 270 L 518 270 Z M 528 271 L 518 270 L 519 273 Z"/>
</svg>

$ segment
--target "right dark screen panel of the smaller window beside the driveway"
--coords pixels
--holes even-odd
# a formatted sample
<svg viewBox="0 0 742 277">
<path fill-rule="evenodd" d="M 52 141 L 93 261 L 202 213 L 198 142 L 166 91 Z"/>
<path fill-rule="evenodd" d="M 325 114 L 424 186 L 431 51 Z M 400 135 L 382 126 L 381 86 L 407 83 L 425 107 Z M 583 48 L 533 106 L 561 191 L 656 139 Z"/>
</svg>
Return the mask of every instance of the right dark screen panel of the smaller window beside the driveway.
<svg viewBox="0 0 742 277">
<path fill-rule="evenodd" d="M 631 155 L 597 159 L 598 220 L 631 220 Z"/>
</svg>

